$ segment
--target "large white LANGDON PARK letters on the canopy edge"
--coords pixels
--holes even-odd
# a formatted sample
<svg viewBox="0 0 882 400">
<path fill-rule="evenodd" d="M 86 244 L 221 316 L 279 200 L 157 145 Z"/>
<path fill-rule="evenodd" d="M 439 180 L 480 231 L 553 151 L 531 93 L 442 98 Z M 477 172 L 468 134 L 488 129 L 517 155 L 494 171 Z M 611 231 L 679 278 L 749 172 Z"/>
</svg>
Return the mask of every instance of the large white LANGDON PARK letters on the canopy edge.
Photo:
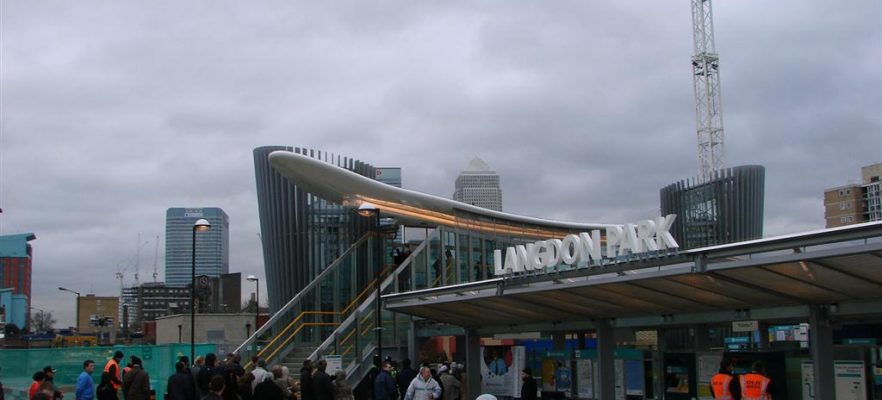
<svg viewBox="0 0 882 400">
<path fill-rule="evenodd" d="M 655 219 L 647 219 L 636 224 L 625 224 L 606 228 L 606 252 L 600 245 L 600 230 L 591 233 L 571 234 L 561 239 L 539 240 L 493 251 L 494 273 L 539 271 L 560 263 L 576 265 L 586 262 L 599 263 L 603 258 L 614 258 L 628 254 L 641 254 L 651 251 L 675 249 L 680 247 L 670 233 L 676 214 Z"/>
</svg>

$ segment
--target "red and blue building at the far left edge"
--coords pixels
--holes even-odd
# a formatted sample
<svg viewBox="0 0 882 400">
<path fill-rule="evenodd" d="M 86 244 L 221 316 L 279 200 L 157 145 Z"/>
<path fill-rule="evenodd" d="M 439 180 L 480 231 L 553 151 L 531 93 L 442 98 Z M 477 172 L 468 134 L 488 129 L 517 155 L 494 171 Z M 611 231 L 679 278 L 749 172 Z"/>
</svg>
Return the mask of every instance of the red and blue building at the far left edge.
<svg viewBox="0 0 882 400">
<path fill-rule="evenodd" d="M 25 321 L 30 321 L 31 264 L 34 255 L 28 242 L 36 238 L 33 233 L 0 236 L 0 289 L 11 288 L 10 295 L 24 295 Z M 11 312 L 9 315 L 12 315 Z"/>
</svg>

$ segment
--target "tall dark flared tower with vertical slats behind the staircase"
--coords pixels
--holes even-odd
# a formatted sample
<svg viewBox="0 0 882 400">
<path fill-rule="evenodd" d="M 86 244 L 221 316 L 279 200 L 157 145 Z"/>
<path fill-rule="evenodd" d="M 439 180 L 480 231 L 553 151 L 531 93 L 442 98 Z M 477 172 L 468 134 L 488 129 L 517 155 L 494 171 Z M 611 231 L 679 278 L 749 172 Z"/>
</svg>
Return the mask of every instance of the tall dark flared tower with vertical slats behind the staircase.
<svg viewBox="0 0 882 400">
<path fill-rule="evenodd" d="M 269 155 L 274 151 L 302 154 L 371 179 L 376 177 L 372 165 L 338 154 L 287 146 L 254 149 L 260 237 L 271 311 L 278 310 L 306 287 L 367 232 L 371 223 L 280 175 L 270 165 Z"/>
</svg>

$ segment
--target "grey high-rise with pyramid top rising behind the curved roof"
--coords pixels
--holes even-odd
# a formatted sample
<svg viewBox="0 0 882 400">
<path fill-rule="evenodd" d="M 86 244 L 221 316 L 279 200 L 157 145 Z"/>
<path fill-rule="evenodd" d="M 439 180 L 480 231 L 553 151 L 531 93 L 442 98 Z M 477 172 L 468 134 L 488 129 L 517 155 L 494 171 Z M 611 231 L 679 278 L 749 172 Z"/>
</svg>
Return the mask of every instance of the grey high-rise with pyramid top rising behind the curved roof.
<svg viewBox="0 0 882 400">
<path fill-rule="evenodd" d="M 453 200 L 489 210 L 502 211 L 499 174 L 478 157 L 469 161 L 456 178 Z"/>
</svg>

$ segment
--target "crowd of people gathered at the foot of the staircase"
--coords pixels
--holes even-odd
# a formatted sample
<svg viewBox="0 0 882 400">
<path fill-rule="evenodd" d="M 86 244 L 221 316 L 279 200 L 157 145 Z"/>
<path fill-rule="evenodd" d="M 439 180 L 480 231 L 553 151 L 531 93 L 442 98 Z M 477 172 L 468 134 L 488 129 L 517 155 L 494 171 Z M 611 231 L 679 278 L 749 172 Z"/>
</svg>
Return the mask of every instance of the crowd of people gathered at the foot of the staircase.
<svg viewBox="0 0 882 400">
<path fill-rule="evenodd" d="M 152 400 L 150 375 L 142 360 L 116 351 L 100 370 L 100 383 L 93 374 L 98 365 L 94 360 L 83 362 L 76 380 L 75 400 Z M 375 360 L 374 368 L 359 386 L 359 398 L 372 400 L 465 400 L 464 371 L 456 363 L 443 363 L 436 369 L 424 364 L 419 369 L 411 361 L 401 363 L 387 358 Z M 124 364 L 124 366 L 123 366 Z M 166 400 L 355 400 L 356 392 L 341 370 L 331 371 L 325 360 L 304 360 L 300 375 L 295 377 L 286 366 L 268 366 L 253 357 L 248 369 L 241 357 L 229 353 L 219 359 L 209 353 L 191 363 L 182 356 L 175 363 L 175 372 L 166 383 Z M 55 384 L 56 370 L 46 366 L 33 375 L 28 391 L 31 400 L 55 400 L 68 397 Z M 70 397 L 68 397 L 70 398 Z"/>
</svg>

